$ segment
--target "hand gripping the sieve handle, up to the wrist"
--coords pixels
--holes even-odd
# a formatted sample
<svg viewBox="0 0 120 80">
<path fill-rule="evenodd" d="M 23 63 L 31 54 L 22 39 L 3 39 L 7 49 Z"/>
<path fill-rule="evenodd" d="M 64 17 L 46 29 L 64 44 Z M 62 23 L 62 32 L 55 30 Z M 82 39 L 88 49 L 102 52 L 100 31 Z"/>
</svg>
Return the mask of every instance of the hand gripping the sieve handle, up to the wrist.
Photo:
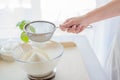
<svg viewBox="0 0 120 80">
<path fill-rule="evenodd" d="M 73 17 L 67 19 L 63 24 L 60 25 L 62 31 L 67 31 L 71 33 L 80 33 L 88 26 L 87 19 L 84 16 Z"/>
</svg>

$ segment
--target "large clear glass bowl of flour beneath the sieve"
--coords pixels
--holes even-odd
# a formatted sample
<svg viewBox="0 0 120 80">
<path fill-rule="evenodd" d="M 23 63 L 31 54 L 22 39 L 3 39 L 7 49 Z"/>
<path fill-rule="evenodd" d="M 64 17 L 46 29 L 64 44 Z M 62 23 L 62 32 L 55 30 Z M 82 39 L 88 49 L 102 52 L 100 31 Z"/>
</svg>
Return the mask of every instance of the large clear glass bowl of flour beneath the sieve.
<svg viewBox="0 0 120 80">
<path fill-rule="evenodd" d="M 13 57 L 30 79 L 50 79 L 63 54 L 63 46 L 54 41 L 23 43 L 14 49 Z M 39 80 L 38 79 L 38 80 Z"/>
</svg>

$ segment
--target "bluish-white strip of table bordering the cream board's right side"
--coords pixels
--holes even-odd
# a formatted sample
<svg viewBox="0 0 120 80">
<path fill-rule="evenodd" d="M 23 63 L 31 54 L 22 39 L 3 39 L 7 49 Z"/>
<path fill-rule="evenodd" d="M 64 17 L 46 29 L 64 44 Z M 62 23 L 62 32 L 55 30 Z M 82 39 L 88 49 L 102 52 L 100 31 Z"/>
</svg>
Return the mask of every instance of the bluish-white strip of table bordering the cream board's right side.
<svg viewBox="0 0 120 80">
<path fill-rule="evenodd" d="M 57 38 L 57 41 L 60 39 Z M 102 69 L 93 49 L 90 46 L 88 39 L 83 35 L 75 35 L 69 37 L 61 37 L 63 41 L 74 41 L 79 48 L 81 56 L 90 77 L 90 80 L 108 80 L 104 70 Z"/>
</svg>

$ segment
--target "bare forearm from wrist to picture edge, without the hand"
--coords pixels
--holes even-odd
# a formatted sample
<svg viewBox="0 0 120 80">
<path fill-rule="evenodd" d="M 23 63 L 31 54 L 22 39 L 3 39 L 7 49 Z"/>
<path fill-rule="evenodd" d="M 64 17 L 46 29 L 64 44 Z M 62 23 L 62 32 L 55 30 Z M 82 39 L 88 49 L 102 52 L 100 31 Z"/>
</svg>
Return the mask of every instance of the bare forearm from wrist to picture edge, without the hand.
<svg viewBox="0 0 120 80">
<path fill-rule="evenodd" d="M 120 0 L 112 0 L 105 6 L 95 9 L 85 15 L 89 23 L 120 16 Z"/>
</svg>

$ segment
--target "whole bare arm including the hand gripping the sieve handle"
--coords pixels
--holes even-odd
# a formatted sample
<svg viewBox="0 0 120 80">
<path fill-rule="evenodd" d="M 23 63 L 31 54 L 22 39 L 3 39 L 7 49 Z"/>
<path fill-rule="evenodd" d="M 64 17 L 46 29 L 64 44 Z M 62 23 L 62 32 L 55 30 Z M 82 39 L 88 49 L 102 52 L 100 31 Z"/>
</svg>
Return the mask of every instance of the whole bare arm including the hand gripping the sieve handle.
<svg viewBox="0 0 120 80">
<path fill-rule="evenodd" d="M 60 28 L 63 31 L 79 33 L 91 23 L 115 16 L 120 16 L 120 0 L 112 0 L 108 4 L 99 7 L 83 16 L 67 19 L 60 26 Z"/>
</svg>

